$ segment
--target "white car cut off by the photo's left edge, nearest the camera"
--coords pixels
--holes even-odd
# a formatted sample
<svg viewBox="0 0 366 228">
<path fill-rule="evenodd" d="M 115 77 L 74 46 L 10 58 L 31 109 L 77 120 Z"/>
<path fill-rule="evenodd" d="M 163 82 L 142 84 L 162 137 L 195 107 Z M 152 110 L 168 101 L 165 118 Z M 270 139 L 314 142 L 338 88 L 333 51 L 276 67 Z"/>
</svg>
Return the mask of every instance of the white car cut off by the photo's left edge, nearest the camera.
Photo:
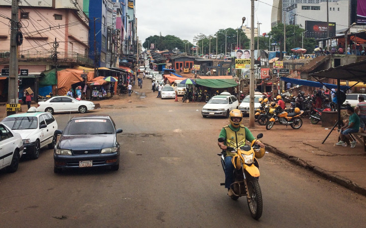
<svg viewBox="0 0 366 228">
<path fill-rule="evenodd" d="M 22 154 L 23 142 L 20 134 L 0 123 L 0 170 L 6 168 L 8 172 L 15 172 Z"/>
</svg>

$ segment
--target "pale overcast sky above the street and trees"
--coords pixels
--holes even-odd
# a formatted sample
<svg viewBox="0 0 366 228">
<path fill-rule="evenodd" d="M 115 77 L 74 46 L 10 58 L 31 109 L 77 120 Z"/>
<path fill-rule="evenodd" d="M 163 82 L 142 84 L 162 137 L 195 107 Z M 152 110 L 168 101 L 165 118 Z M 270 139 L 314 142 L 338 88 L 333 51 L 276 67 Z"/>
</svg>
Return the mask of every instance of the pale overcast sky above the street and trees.
<svg viewBox="0 0 366 228">
<path fill-rule="evenodd" d="M 273 0 L 261 0 L 272 5 Z M 254 1 L 254 23 L 260 34 L 271 30 L 272 6 Z M 149 36 L 174 35 L 193 42 L 202 33 L 213 35 L 219 29 L 238 28 L 242 17 L 250 27 L 251 0 L 136 0 L 137 35 L 142 43 Z"/>
</svg>

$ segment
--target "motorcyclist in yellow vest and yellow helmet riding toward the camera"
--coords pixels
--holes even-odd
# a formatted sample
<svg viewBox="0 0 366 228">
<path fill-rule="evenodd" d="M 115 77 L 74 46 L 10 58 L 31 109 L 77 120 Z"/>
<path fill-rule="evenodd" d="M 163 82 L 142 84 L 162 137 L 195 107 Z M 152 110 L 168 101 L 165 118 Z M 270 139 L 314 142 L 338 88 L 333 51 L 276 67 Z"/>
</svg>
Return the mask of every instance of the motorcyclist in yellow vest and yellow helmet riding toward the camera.
<svg viewBox="0 0 366 228">
<path fill-rule="evenodd" d="M 229 114 L 229 120 L 230 124 L 224 126 L 221 129 L 219 138 L 223 137 L 225 138 L 225 142 L 217 142 L 217 145 L 220 147 L 221 150 L 226 150 L 227 145 L 239 148 L 246 144 L 246 140 L 248 140 L 251 145 L 253 146 L 253 143 L 256 145 L 259 145 L 260 147 L 264 148 L 265 145 L 257 140 L 252 135 L 250 130 L 245 127 L 243 124 L 241 124 L 243 120 L 243 114 L 240 110 L 234 109 L 230 111 Z M 225 155 L 225 188 L 228 189 L 228 195 L 232 196 L 234 193 L 230 189 L 230 185 L 234 182 L 234 166 L 231 162 L 232 157 L 236 155 L 236 153 L 233 153 L 231 151 L 226 151 Z"/>
</svg>

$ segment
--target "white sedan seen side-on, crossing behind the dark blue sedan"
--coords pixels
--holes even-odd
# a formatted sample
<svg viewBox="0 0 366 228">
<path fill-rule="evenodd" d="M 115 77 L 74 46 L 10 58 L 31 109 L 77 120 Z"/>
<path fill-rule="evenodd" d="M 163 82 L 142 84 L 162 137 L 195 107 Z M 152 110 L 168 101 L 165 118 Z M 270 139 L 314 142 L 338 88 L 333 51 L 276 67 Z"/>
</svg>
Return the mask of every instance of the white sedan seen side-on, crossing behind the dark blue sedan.
<svg viewBox="0 0 366 228">
<path fill-rule="evenodd" d="M 95 108 L 91 101 L 78 101 L 75 98 L 68 96 L 57 96 L 48 99 L 47 101 L 38 102 L 38 112 L 48 112 L 50 114 L 61 112 L 79 112 L 86 113 Z"/>
</svg>

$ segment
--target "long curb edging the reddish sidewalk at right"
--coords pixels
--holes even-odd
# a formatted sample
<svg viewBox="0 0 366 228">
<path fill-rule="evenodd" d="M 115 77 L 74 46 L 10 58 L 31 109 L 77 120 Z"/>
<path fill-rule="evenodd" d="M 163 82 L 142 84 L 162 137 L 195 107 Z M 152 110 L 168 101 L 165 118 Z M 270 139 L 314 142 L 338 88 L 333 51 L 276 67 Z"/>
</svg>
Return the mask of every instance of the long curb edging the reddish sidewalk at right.
<svg viewBox="0 0 366 228">
<path fill-rule="evenodd" d="M 362 187 L 362 186 L 359 186 L 357 183 L 353 182 L 352 180 L 350 179 L 347 179 L 343 176 L 340 176 L 340 175 L 337 175 L 337 174 L 334 174 L 332 172 L 329 172 L 329 171 L 326 171 L 326 170 L 323 170 L 322 168 L 319 168 L 319 167 L 316 167 L 316 166 L 312 166 L 310 165 L 309 163 L 307 163 L 306 161 L 302 160 L 302 159 L 299 159 L 297 157 L 294 157 L 294 156 L 290 156 L 278 149 L 276 149 L 275 147 L 271 146 L 271 145 L 268 145 L 266 144 L 266 150 L 267 151 L 270 151 L 272 152 L 273 154 L 276 154 L 278 155 L 279 157 L 282 157 L 282 158 L 285 158 L 287 159 L 288 161 L 290 161 L 291 163 L 297 165 L 297 166 L 300 166 L 304 169 L 307 169 L 309 171 L 312 171 L 314 172 L 315 174 L 325 178 L 325 179 L 328 179 L 328 180 L 331 180 L 341 186 L 344 186 L 354 192 L 357 192 L 361 195 L 364 195 L 366 196 L 366 188 Z"/>
</svg>

